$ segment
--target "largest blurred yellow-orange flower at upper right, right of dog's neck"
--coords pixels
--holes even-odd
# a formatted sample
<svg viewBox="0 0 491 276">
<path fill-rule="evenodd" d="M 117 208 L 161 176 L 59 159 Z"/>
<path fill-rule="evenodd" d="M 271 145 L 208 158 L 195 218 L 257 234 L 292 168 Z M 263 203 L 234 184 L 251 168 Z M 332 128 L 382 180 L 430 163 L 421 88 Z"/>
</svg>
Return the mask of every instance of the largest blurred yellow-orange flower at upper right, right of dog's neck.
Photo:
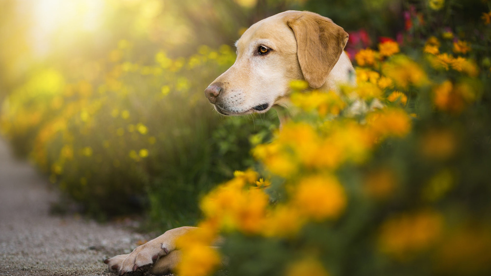
<svg viewBox="0 0 491 276">
<path fill-rule="evenodd" d="M 423 86 L 428 83 L 425 71 L 405 55 L 396 55 L 383 64 L 382 73 L 403 88 L 407 88 L 409 84 Z"/>
</svg>

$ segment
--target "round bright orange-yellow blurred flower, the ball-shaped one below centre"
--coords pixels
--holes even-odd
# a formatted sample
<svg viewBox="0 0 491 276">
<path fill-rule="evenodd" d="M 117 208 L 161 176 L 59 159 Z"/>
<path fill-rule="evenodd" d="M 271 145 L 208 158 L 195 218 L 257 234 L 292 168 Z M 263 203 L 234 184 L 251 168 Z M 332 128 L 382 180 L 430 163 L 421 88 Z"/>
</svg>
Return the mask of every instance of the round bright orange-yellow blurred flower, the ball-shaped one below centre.
<svg viewBox="0 0 491 276">
<path fill-rule="evenodd" d="M 293 202 L 304 216 L 315 221 L 336 219 L 346 207 L 346 193 L 329 175 L 305 177 L 293 194 Z"/>
</svg>

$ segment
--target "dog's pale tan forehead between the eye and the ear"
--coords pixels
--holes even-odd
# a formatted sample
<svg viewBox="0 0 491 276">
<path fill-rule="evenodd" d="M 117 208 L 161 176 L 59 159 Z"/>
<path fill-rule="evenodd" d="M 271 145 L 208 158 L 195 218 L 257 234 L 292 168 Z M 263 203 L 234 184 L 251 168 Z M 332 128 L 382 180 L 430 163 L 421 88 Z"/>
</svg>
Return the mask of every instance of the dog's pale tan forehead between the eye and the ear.
<svg viewBox="0 0 491 276">
<path fill-rule="evenodd" d="M 293 31 L 284 21 L 284 16 L 276 14 L 249 27 L 235 43 L 235 46 L 237 49 L 245 50 L 251 43 L 257 41 L 271 41 L 274 43 L 291 37 L 294 38 Z"/>
</svg>

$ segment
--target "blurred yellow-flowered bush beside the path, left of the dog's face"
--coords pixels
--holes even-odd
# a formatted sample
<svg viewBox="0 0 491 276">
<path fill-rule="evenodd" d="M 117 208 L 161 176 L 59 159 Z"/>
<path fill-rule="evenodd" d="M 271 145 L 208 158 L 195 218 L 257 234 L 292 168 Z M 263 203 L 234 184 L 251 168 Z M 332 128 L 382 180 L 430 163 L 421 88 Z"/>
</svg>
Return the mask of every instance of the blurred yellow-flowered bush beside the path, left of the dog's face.
<svg viewBox="0 0 491 276">
<path fill-rule="evenodd" d="M 252 164 L 247 135 L 261 142 L 270 121 L 210 109 L 202 90 L 235 60 L 228 46 L 139 58 L 122 40 L 106 59 L 79 64 L 88 76 L 37 72 L 5 100 L 1 129 L 89 213 L 149 207 L 163 227 L 193 223 L 198 195 Z"/>
</svg>

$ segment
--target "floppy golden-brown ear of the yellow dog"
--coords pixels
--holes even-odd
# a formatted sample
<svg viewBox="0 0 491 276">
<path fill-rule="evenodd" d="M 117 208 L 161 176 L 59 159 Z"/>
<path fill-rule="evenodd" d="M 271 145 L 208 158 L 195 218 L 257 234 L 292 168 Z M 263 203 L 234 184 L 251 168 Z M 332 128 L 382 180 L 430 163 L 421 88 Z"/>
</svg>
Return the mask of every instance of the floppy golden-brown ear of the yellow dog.
<svg viewBox="0 0 491 276">
<path fill-rule="evenodd" d="M 321 87 L 343 53 L 348 33 L 327 17 L 298 11 L 285 16 L 297 39 L 297 55 L 305 81 Z"/>
</svg>

